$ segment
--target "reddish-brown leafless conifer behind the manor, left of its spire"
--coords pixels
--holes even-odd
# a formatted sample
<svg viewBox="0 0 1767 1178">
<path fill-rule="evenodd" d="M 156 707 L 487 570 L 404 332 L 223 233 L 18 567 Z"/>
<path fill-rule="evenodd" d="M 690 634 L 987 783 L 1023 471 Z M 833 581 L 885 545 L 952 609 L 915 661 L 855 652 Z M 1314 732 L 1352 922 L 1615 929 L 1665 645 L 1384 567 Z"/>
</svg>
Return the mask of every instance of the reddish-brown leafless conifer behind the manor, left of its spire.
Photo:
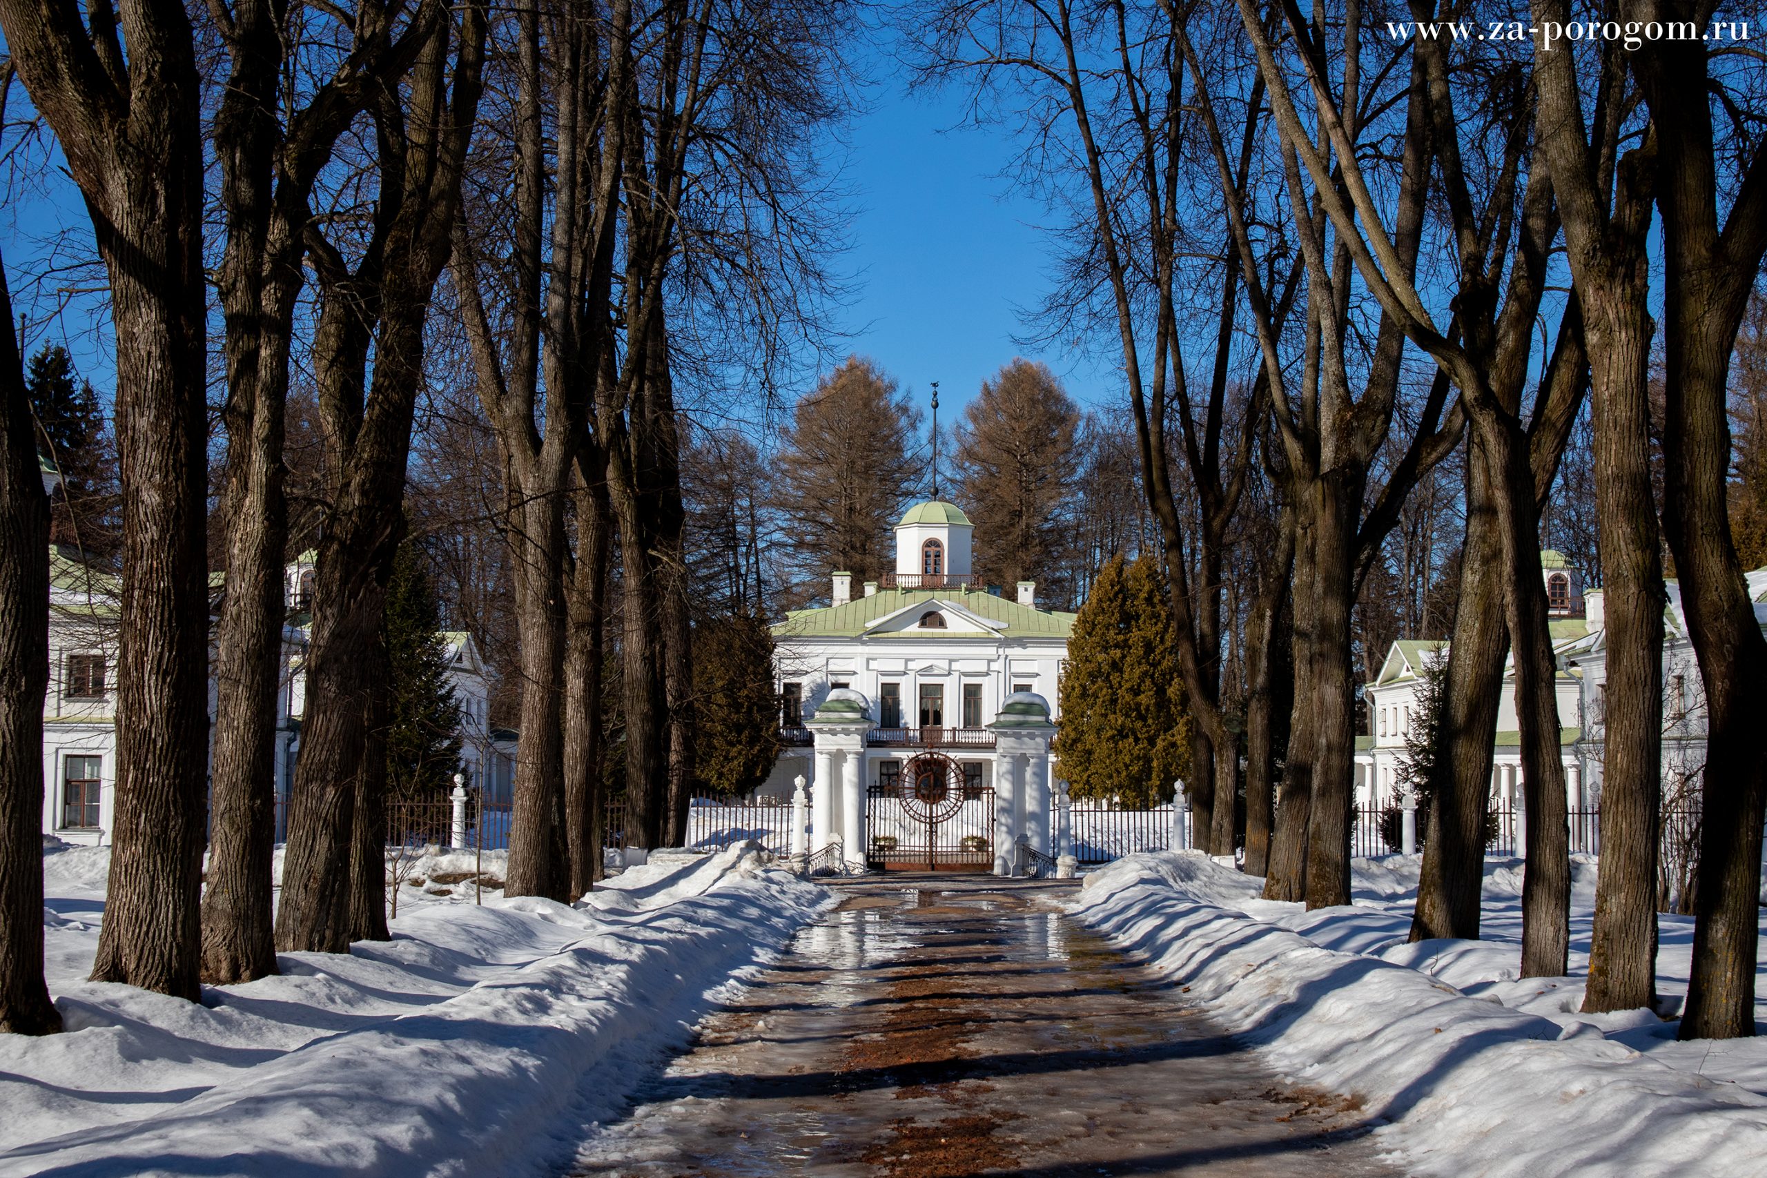
<svg viewBox="0 0 1767 1178">
<path fill-rule="evenodd" d="M 848 357 L 797 403 L 777 505 L 811 593 L 830 569 L 857 585 L 891 567 L 891 528 L 922 473 L 908 457 L 917 424 L 896 381 L 864 357 Z"/>
</svg>

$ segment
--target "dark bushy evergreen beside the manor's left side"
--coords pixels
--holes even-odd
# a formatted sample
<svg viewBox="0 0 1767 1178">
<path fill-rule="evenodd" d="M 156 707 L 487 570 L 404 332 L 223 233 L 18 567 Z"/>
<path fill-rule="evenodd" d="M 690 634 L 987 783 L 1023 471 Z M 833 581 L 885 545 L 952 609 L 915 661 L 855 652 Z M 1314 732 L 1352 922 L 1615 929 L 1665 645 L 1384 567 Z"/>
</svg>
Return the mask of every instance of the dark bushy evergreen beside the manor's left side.
<svg viewBox="0 0 1767 1178">
<path fill-rule="evenodd" d="M 694 791 L 739 797 L 767 781 L 779 756 L 772 634 L 746 613 L 693 631 Z"/>
</svg>

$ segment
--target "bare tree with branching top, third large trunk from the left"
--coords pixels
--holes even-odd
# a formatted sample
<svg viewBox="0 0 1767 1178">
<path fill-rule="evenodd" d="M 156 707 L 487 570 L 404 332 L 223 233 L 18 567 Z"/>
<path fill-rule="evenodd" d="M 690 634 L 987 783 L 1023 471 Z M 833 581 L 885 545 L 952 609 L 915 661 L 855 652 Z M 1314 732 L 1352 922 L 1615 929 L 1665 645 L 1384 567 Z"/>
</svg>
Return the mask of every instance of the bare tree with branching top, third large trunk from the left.
<svg viewBox="0 0 1767 1178">
<path fill-rule="evenodd" d="M 228 389 L 226 593 L 216 634 L 214 821 L 203 892 L 203 977 L 216 984 L 276 973 L 270 782 L 286 618 L 283 438 L 304 233 L 313 184 L 337 136 L 376 87 L 410 65 L 421 42 L 422 19 L 394 39 L 401 7 L 373 0 L 357 7 L 352 53 L 286 113 L 286 129 L 279 117 L 286 53 L 311 34 L 290 26 L 279 0 L 212 9 L 233 62 L 214 122 L 226 219 L 217 286 Z"/>
</svg>

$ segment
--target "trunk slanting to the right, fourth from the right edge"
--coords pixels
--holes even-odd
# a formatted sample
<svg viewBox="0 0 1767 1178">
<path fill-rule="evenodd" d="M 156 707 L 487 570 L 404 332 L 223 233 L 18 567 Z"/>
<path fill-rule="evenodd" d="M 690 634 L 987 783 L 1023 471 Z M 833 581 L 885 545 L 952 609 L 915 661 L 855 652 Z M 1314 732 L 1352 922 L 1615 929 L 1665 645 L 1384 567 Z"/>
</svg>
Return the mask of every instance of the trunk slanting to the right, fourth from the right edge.
<svg viewBox="0 0 1767 1178">
<path fill-rule="evenodd" d="M 1424 839 L 1414 941 L 1479 936 L 1484 825 L 1491 809 L 1491 749 L 1504 689 L 1509 629 L 1491 472 L 1484 445 L 1468 438 L 1467 532 L 1460 562 L 1447 691 L 1430 772 L 1433 802 Z"/>
</svg>

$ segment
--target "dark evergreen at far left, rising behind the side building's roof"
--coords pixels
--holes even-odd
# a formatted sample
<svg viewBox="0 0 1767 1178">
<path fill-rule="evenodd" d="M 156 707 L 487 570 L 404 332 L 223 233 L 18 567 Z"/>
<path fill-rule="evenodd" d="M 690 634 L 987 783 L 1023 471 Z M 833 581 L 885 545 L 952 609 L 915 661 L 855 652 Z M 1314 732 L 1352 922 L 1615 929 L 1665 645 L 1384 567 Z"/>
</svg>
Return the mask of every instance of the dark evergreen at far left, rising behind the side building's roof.
<svg viewBox="0 0 1767 1178">
<path fill-rule="evenodd" d="M 118 542 L 117 459 L 92 385 L 80 380 L 67 348 L 48 344 L 25 371 L 37 447 L 62 475 L 49 516 L 49 540 L 111 555 Z"/>
</svg>

